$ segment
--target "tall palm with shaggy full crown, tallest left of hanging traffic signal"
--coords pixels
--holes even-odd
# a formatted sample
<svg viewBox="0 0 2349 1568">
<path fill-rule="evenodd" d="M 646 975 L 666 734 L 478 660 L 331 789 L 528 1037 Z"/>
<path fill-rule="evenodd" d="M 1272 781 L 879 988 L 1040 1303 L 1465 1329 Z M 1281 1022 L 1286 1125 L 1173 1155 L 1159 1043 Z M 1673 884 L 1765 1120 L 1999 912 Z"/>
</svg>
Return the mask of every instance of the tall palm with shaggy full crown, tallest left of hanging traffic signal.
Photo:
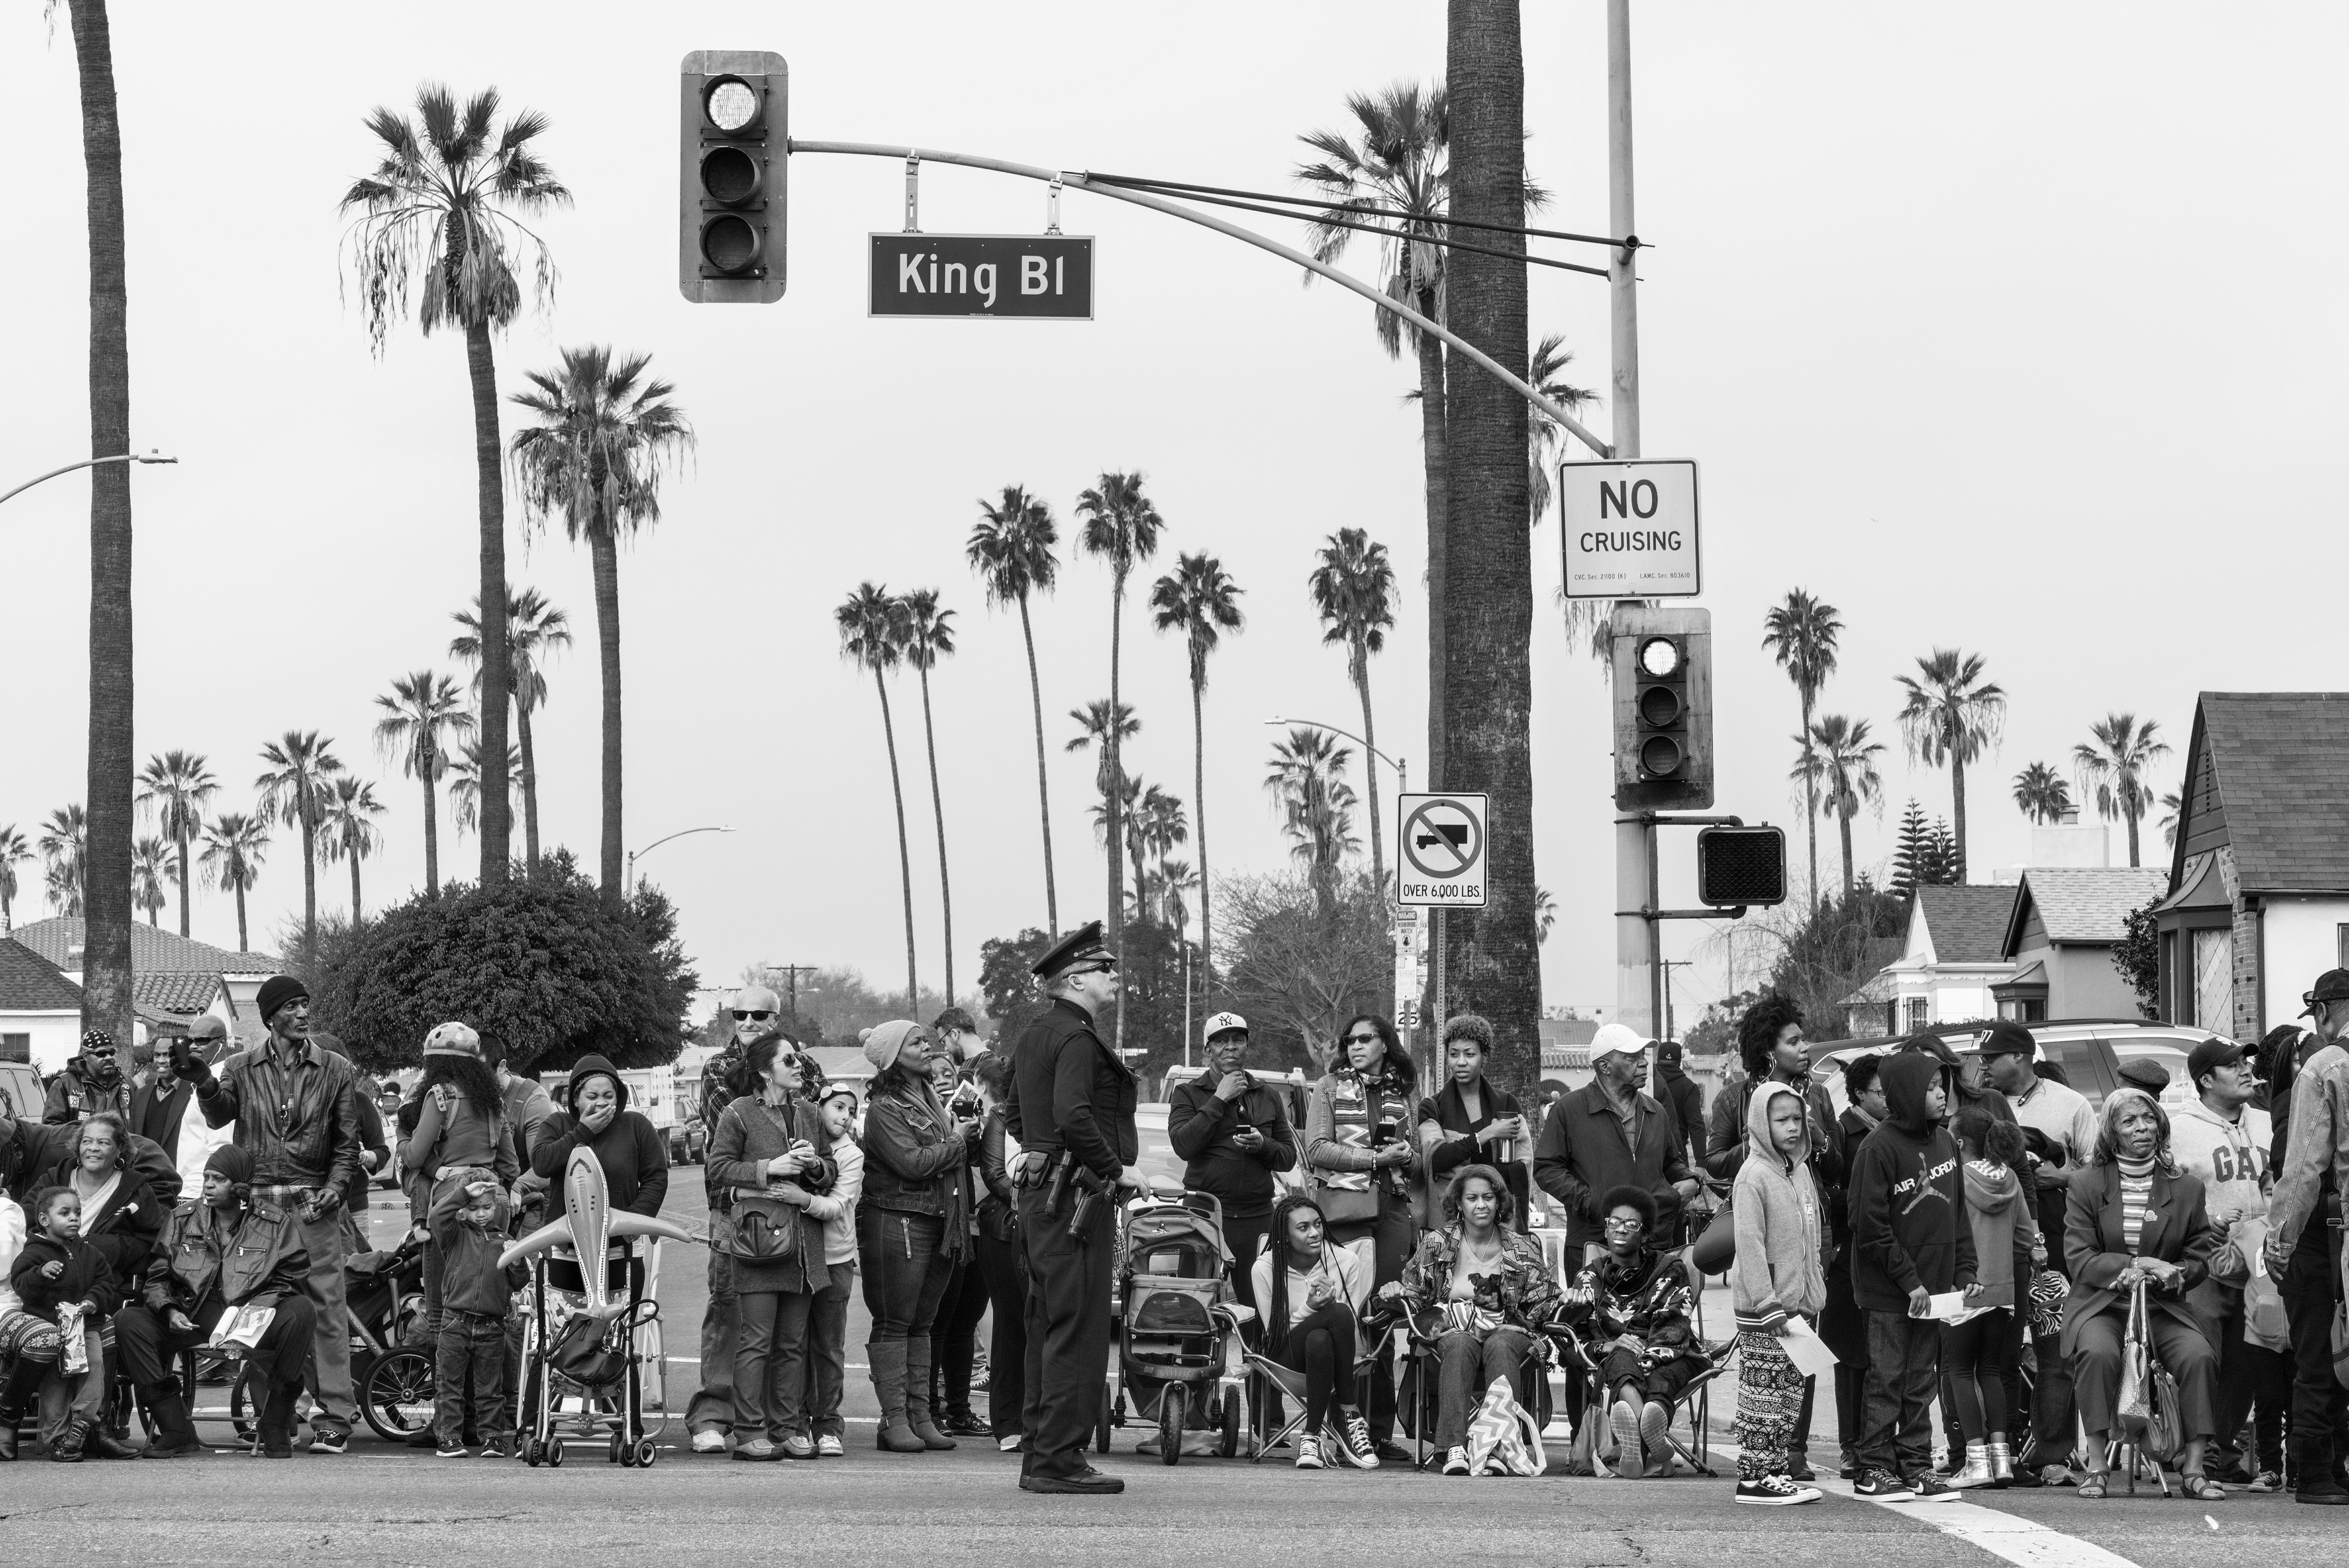
<svg viewBox="0 0 2349 1568">
<path fill-rule="evenodd" d="M 366 336 L 381 355 L 392 324 L 465 334 L 465 374 L 472 381 L 472 468 L 482 529 L 482 684 L 507 691 L 505 630 L 505 473 L 498 442 L 498 367 L 491 334 L 521 315 L 521 275 L 531 275 L 540 308 L 554 299 L 554 259 L 524 219 L 571 205 L 554 169 L 538 160 L 547 120 L 519 110 L 498 122 L 498 89 L 460 106 L 439 82 L 416 89 L 416 118 L 376 108 L 366 129 L 383 143 L 373 172 L 343 193 L 343 212 L 359 216 L 343 244 L 350 280 L 366 315 Z M 482 710 L 482 743 L 491 764 L 505 764 L 505 703 Z M 493 780 L 482 820 L 482 886 L 503 886 L 512 858 L 505 780 Z"/>
</svg>

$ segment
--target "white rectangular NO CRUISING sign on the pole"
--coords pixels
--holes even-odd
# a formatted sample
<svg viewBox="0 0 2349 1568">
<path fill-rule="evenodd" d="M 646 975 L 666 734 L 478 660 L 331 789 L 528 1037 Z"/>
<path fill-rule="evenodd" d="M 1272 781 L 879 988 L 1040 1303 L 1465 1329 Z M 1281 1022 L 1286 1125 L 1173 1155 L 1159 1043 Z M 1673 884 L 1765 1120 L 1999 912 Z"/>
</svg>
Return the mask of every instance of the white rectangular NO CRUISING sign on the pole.
<svg viewBox="0 0 2349 1568">
<path fill-rule="evenodd" d="M 1569 599 L 1684 599 L 1703 574 L 1696 463 L 1560 463 Z"/>
</svg>

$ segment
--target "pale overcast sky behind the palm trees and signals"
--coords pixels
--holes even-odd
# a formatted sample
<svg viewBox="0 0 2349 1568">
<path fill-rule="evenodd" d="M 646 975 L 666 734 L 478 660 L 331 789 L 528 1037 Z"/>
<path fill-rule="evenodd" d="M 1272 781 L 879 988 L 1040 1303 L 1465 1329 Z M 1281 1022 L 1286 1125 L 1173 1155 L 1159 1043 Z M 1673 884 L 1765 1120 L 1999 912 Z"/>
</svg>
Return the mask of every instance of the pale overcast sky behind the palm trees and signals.
<svg viewBox="0 0 2349 1568">
<path fill-rule="evenodd" d="M 1106 468 L 1139 468 L 1167 520 L 1137 574 L 1125 691 L 1132 766 L 1191 795 L 1184 654 L 1146 630 L 1146 581 L 1212 550 L 1247 588 L 1247 632 L 1207 686 L 1210 830 L 1224 872 L 1283 842 L 1259 788 L 1273 712 L 1348 729 L 1344 658 L 1306 599 L 1337 527 L 1384 541 L 1405 583 L 1374 663 L 1386 750 L 1426 750 L 1419 416 L 1369 308 L 1186 223 L 1071 193 L 1099 235 L 1099 320 L 874 322 L 864 235 L 900 226 L 902 169 L 796 158 L 789 294 L 686 306 L 677 266 L 677 61 L 789 59 L 792 129 L 1022 162 L 1285 188 L 1297 134 L 1348 92 L 1442 71 L 1442 7 L 446 5 L 397 19 L 319 5 L 117 2 L 129 209 L 132 430 L 179 468 L 136 470 L 139 755 L 186 748 L 247 809 L 256 750 L 319 729 L 390 802 L 366 867 L 381 907 L 423 884 L 420 799 L 371 745 L 373 696 L 449 668 L 474 590 L 463 343 L 397 331 L 378 360 L 338 273 L 336 197 L 371 167 L 362 115 L 420 80 L 496 85 L 545 110 L 573 188 L 543 233 L 552 313 L 498 343 L 500 388 L 578 343 L 653 355 L 700 430 L 660 527 L 622 555 L 627 842 L 735 823 L 646 860 L 705 983 L 756 959 L 855 964 L 902 983 L 881 715 L 839 658 L 832 607 L 862 578 L 935 585 L 963 651 L 933 679 L 954 865 L 956 980 L 989 936 L 1043 924 L 1036 776 L 1017 618 L 963 564 L 975 498 L 1027 484 L 1064 527 Z M 2337 7 L 1642 5 L 1635 7 L 1640 324 L 1649 456 L 1703 465 L 1717 635 L 1719 809 L 1788 823 L 1795 691 L 1755 646 L 1802 585 L 1842 607 L 1823 696 L 1891 741 L 1879 865 L 1900 802 L 1945 813 L 1945 773 L 1898 752 L 1893 675 L 1936 644 L 1980 651 L 2011 693 L 1968 790 L 1973 867 L 2018 863 L 2008 778 L 2062 764 L 2109 710 L 2185 750 L 2199 689 L 2340 686 L 2318 597 L 2342 559 L 2337 449 L 2349 16 Z M 1597 0 L 1527 7 L 1529 165 L 1548 223 L 1604 230 Z M 0 487 L 87 454 L 87 254 L 73 42 L 59 7 L 0 16 Z M 928 167 L 923 228 L 1034 233 L 1043 190 Z M 1264 219 L 1294 240 L 1294 226 Z M 1553 254 L 1588 261 L 1579 247 Z M 1353 256 L 1372 268 L 1365 247 Z M 1607 289 L 1536 270 L 1534 334 L 1607 378 Z M 1595 418 L 1604 435 L 1604 409 Z M 512 430 L 512 421 L 507 421 Z M 540 717 L 545 837 L 592 865 L 597 675 L 587 557 L 526 538 L 512 576 L 571 611 Z M 82 795 L 87 482 L 0 510 L 0 823 Z M 1534 830 L 1560 905 L 1543 994 L 1611 1004 L 1604 686 L 1571 654 L 1539 529 Z M 1083 809 L 1092 764 L 1064 717 L 1106 696 L 1109 574 L 1066 562 L 1038 604 L 1062 922 L 1099 912 Z M 937 856 L 916 693 L 897 738 L 926 985 L 940 983 Z M 2175 788 L 2173 757 L 2159 788 Z M 1358 780 L 1360 783 L 1360 780 Z M 1835 877 L 1823 825 L 1820 870 Z M 1680 835 L 1684 839 L 1687 835 Z M 519 823 L 517 823 L 519 844 Z M 2114 830 L 2116 856 L 2121 832 Z M 2147 825 L 2149 856 L 2161 835 Z M 474 842 L 449 865 L 477 865 Z M 1687 900 L 1668 839 L 1668 903 Z M 1797 849 L 1799 856 L 1799 849 Z M 42 914 L 28 867 L 19 919 Z M 470 870 L 465 872 L 470 875 Z M 348 875 L 319 872 L 322 907 Z M 256 945 L 301 910 L 284 835 Z M 176 910 L 174 910 L 176 914 Z M 167 919 L 171 919 L 167 914 Z M 235 940 L 226 896 L 195 936 Z M 1682 1006 L 1722 990 L 1698 954 Z M 1684 1013 L 1687 1018 L 1687 1013 Z"/>
</svg>

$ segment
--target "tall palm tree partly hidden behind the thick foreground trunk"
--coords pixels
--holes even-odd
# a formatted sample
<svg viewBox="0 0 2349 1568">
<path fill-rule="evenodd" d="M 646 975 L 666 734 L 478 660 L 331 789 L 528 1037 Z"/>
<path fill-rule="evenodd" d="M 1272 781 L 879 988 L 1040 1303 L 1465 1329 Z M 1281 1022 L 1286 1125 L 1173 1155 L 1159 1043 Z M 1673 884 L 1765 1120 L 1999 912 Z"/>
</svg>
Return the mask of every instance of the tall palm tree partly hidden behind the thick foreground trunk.
<svg viewBox="0 0 2349 1568">
<path fill-rule="evenodd" d="M 1301 141 L 1318 153 L 1301 165 L 1297 179 L 1327 197 L 1327 219 L 1360 223 L 1367 207 L 1381 219 L 1367 219 L 1391 230 L 1379 240 L 1379 275 L 1388 299 L 1409 303 L 1431 322 L 1447 310 L 1445 252 L 1438 240 L 1449 230 L 1442 219 L 1452 200 L 1449 106 L 1442 82 L 1393 82 L 1384 92 L 1358 92 L 1346 99 L 1353 118 L 1348 132 L 1311 132 Z M 1334 221 L 1313 223 L 1308 237 L 1315 261 L 1337 261 L 1360 230 Z M 1313 275 L 1306 273 L 1306 282 Z M 1405 334 L 1419 360 L 1419 444 L 1428 503 L 1428 788 L 1445 783 L 1445 562 L 1449 555 L 1445 515 L 1449 508 L 1449 402 L 1445 397 L 1442 339 L 1409 327 L 1391 310 L 1372 310 L 1379 343 L 1391 360 L 1402 357 Z M 1503 360 L 1506 364 L 1506 360 Z"/>
</svg>

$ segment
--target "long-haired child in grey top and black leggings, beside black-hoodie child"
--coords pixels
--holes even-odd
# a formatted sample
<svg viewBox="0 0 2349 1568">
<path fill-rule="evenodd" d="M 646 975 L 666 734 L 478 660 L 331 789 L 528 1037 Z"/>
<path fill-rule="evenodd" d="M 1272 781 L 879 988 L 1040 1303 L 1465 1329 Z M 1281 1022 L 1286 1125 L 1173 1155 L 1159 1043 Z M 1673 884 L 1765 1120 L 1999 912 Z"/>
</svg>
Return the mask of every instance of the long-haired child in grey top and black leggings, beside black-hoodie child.
<svg viewBox="0 0 2349 1568">
<path fill-rule="evenodd" d="M 1973 1262 L 1983 1293 L 1968 1302 L 1976 1316 L 1945 1324 L 1940 1363 L 1950 1373 L 1950 1403 L 1966 1443 L 1966 1467 L 1950 1486 L 2006 1486 L 2015 1479 L 2013 1453 L 2006 1448 L 2006 1378 L 2015 1366 L 2018 1281 L 2046 1258 L 2039 1241 L 2034 1192 L 2022 1173 L 2022 1128 L 1997 1121 L 1978 1110 L 1957 1117 L 1957 1152 L 1966 1185 L 1966 1227 L 1973 1234 Z"/>
</svg>

